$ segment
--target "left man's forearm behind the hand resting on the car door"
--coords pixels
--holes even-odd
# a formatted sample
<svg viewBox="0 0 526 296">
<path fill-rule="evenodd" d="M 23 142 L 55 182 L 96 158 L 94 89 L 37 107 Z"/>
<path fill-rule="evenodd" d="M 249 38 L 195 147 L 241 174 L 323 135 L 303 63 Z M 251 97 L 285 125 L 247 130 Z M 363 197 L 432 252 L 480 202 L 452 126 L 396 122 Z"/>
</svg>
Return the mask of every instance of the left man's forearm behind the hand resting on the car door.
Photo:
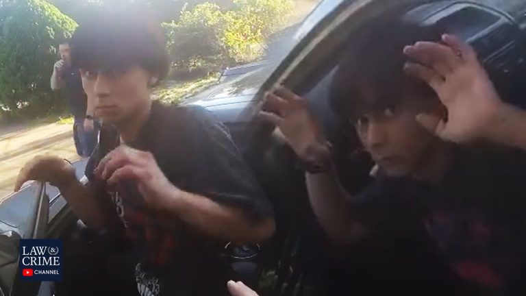
<svg viewBox="0 0 526 296">
<path fill-rule="evenodd" d="M 60 193 L 73 212 L 77 214 L 88 227 L 102 230 L 105 228 L 105 219 L 100 211 L 97 199 L 92 190 L 79 181 L 71 182 L 66 186 L 61 186 Z"/>
</svg>

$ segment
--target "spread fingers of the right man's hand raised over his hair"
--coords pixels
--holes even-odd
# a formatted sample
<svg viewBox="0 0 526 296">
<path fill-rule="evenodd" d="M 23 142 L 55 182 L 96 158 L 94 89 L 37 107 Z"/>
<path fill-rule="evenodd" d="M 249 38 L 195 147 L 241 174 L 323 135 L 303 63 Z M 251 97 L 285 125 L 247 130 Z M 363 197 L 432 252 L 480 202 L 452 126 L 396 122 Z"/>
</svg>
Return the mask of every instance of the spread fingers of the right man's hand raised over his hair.
<svg viewBox="0 0 526 296">
<path fill-rule="evenodd" d="M 436 42 L 416 42 L 415 45 L 405 47 L 403 52 L 442 76 L 449 75 L 462 62 L 451 47 Z"/>
</svg>

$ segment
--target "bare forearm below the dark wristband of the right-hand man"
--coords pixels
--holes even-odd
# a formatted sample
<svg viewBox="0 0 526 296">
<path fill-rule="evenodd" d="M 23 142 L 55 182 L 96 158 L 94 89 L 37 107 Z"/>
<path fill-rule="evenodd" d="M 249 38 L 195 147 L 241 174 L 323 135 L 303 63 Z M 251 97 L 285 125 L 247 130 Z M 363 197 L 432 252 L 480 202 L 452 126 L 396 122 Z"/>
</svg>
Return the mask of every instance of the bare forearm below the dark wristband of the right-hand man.
<svg viewBox="0 0 526 296">
<path fill-rule="evenodd" d="M 349 217 L 348 193 L 338 181 L 334 169 L 327 173 L 307 173 L 305 178 L 314 214 L 327 236 L 338 245 L 360 240 L 365 227 Z"/>
</svg>

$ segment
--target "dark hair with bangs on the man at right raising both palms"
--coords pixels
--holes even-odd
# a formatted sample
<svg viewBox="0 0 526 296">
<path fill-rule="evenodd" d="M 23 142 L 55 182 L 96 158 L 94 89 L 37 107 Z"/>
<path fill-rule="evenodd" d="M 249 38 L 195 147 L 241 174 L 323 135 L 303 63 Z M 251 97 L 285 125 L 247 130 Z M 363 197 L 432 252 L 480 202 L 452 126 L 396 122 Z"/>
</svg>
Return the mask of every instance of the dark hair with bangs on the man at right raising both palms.
<svg viewBox="0 0 526 296">
<path fill-rule="evenodd" d="M 434 97 L 429 86 L 403 71 L 408 61 L 403 47 L 418 40 L 440 40 L 440 33 L 434 28 L 390 20 L 362 38 L 353 38 L 331 85 L 329 100 L 334 112 L 356 119 Z"/>
</svg>

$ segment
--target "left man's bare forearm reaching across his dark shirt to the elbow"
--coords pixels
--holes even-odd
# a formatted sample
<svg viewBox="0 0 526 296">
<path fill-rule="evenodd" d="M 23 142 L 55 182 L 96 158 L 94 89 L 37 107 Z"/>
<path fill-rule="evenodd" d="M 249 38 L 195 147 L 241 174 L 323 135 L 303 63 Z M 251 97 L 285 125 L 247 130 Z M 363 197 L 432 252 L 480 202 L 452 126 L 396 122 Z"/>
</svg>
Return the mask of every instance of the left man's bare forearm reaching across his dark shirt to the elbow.
<svg viewBox="0 0 526 296">
<path fill-rule="evenodd" d="M 171 190 L 163 211 L 179 217 L 188 225 L 215 238 L 233 243 L 255 243 L 270 238 L 274 232 L 273 219 L 251 225 L 242 210 L 218 204 L 211 199 Z"/>
</svg>

